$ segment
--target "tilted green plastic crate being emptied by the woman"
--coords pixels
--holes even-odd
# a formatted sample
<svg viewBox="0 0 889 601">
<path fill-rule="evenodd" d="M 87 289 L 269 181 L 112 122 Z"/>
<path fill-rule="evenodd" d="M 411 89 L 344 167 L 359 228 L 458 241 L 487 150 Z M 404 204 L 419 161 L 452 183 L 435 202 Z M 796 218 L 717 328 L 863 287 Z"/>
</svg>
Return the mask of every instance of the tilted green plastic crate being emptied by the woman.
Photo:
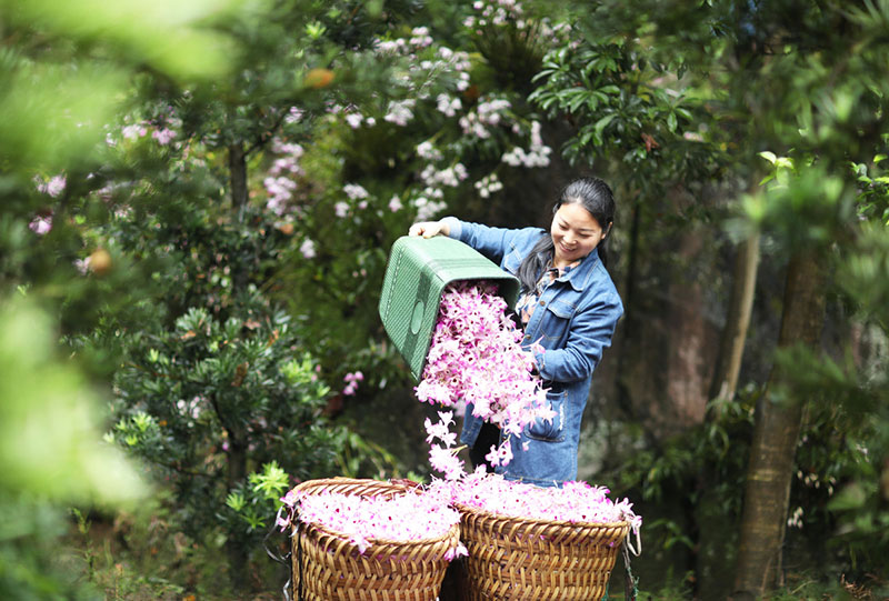
<svg viewBox="0 0 889 601">
<path fill-rule="evenodd" d="M 456 281 L 486 280 L 515 309 L 519 280 L 458 240 L 402 237 L 392 244 L 380 296 L 386 333 L 419 381 L 432 342 L 441 293 Z"/>
</svg>

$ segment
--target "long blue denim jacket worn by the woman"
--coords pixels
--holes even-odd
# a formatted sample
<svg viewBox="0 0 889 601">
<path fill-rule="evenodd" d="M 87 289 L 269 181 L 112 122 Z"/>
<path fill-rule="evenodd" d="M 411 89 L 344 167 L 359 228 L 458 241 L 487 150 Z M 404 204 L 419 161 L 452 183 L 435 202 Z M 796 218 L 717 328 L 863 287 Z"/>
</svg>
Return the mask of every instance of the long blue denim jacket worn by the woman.
<svg viewBox="0 0 889 601">
<path fill-rule="evenodd" d="M 518 277 L 519 264 L 543 236 L 540 228 L 490 228 L 448 217 L 450 237 L 469 244 L 501 269 Z M 538 372 L 549 389 L 547 400 L 556 417 L 528 425 L 512 438 L 512 460 L 497 468 L 507 479 L 540 487 L 561 485 L 577 479 L 580 421 L 590 391 L 592 371 L 611 345 L 623 305 L 599 253 L 593 250 L 580 264 L 553 281 L 538 299 L 525 328 L 522 345 L 540 343 Z M 467 408 L 460 441 L 473 444 L 482 420 Z"/>
</svg>

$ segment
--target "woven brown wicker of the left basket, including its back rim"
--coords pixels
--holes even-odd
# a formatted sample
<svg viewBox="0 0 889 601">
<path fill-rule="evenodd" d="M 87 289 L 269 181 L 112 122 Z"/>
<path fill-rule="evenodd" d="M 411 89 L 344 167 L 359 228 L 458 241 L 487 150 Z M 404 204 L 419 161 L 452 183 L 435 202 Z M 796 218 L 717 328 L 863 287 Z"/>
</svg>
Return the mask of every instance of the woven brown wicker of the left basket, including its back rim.
<svg viewBox="0 0 889 601">
<path fill-rule="evenodd" d="M 309 494 L 361 497 L 413 494 L 411 487 L 377 480 L 332 478 L 303 482 Z M 444 535 L 412 542 L 370 539 L 363 554 L 320 524 L 294 525 L 293 599 L 297 601 L 434 601 L 448 568 L 444 554 L 459 540 L 457 524 Z M 301 589 L 301 597 L 300 597 Z"/>
</svg>

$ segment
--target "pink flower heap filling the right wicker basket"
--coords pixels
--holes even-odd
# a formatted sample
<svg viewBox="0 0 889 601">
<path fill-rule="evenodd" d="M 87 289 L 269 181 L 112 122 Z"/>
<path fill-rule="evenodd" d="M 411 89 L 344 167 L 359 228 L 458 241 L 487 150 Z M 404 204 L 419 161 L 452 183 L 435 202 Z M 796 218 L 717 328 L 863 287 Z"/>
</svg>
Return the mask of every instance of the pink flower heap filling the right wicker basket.
<svg viewBox="0 0 889 601">
<path fill-rule="evenodd" d="M 570 523 L 617 523 L 629 521 L 638 533 L 642 518 L 627 499 L 608 498 L 603 487 L 566 482 L 562 488 L 539 488 L 507 480 L 483 469 L 459 480 L 432 483 L 432 490 L 449 504 L 480 509 L 507 518 L 552 520 Z"/>
</svg>

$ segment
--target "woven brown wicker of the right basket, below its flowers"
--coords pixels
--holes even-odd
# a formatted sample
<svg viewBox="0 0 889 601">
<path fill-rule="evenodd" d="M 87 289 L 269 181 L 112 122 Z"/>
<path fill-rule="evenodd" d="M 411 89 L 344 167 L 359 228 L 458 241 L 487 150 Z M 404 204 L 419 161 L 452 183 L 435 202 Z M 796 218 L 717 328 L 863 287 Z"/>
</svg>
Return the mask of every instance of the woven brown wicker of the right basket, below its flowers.
<svg viewBox="0 0 889 601">
<path fill-rule="evenodd" d="M 570 523 L 497 515 L 457 505 L 465 601 L 598 601 L 629 522 Z"/>
</svg>

